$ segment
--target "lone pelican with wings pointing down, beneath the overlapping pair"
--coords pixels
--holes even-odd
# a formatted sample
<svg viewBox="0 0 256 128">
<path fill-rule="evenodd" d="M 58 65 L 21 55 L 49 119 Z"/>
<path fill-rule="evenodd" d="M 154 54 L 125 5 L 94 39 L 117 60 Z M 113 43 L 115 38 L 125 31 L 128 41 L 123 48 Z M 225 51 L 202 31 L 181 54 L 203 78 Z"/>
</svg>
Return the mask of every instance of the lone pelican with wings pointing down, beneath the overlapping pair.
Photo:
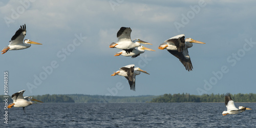
<svg viewBox="0 0 256 128">
<path fill-rule="evenodd" d="M 111 76 L 120 75 L 124 76 L 130 84 L 131 90 L 135 91 L 135 77 L 139 75 L 140 72 L 148 74 L 146 71 L 141 70 L 140 68 L 134 68 L 135 65 L 127 65 L 120 68 L 118 71 L 114 72 Z M 149 74 L 148 74 L 149 75 Z"/>
</svg>

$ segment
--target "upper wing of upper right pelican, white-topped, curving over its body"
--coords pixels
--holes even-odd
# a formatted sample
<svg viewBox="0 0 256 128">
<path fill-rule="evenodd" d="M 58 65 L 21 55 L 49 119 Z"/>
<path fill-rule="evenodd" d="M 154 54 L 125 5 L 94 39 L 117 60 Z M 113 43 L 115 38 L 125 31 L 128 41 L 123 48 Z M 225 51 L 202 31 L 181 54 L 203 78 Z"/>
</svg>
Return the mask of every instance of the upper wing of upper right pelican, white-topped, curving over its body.
<svg viewBox="0 0 256 128">
<path fill-rule="evenodd" d="M 182 52 L 185 48 L 185 35 L 181 34 L 174 36 L 172 38 L 165 40 L 165 42 L 167 42 L 168 45 L 172 45 L 173 43 L 177 47 L 177 50 L 179 52 Z"/>
</svg>

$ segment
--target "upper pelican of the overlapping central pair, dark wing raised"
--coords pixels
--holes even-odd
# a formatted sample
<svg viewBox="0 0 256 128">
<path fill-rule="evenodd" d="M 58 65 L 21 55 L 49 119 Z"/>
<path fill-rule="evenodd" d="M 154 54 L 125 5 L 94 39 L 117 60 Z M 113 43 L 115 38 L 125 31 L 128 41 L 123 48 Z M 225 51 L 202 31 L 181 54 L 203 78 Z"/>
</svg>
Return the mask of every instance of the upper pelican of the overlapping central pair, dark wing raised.
<svg viewBox="0 0 256 128">
<path fill-rule="evenodd" d="M 117 42 L 112 42 L 110 44 L 110 48 L 118 48 L 126 51 L 126 53 L 130 53 L 133 51 L 133 48 L 139 47 L 140 44 L 152 45 L 148 42 L 142 41 L 140 39 L 131 40 L 131 28 L 121 27 L 117 32 Z"/>
</svg>

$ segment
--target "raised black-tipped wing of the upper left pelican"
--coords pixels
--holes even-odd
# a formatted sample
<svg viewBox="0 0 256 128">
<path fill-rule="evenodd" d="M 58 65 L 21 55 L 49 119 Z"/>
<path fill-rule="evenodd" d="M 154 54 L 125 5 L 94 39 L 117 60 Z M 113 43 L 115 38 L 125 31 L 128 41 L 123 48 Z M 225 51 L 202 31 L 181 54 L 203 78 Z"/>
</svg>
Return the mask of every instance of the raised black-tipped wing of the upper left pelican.
<svg viewBox="0 0 256 128">
<path fill-rule="evenodd" d="M 23 44 L 23 39 L 26 36 L 26 24 L 20 26 L 20 28 L 16 31 L 16 33 L 12 36 L 10 45 L 18 45 Z"/>
</svg>

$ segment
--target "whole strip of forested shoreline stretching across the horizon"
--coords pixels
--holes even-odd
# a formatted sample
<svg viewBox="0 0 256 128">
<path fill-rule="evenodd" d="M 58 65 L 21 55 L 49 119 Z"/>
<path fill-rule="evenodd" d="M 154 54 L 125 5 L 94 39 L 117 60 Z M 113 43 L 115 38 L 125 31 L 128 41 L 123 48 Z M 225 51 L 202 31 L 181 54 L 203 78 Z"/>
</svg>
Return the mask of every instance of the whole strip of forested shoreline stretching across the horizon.
<svg viewBox="0 0 256 128">
<path fill-rule="evenodd" d="M 5 95 L 0 95 L 1 102 L 4 102 Z M 224 102 L 224 94 L 204 94 L 190 95 L 182 94 L 164 94 L 161 96 L 145 95 L 145 96 L 102 96 L 102 95 L 84 95 L 84 94 L 68 94 L 68 95 L 37 95 L 33 98 L 42 102 L 76 102 L 76 103 L 115 103 L 115 102 Z M 235 102 L 256 102 L 256 94 L 231 94 Z M 8 98 L 11 103 L 11 96 Z"/>
</svg>

